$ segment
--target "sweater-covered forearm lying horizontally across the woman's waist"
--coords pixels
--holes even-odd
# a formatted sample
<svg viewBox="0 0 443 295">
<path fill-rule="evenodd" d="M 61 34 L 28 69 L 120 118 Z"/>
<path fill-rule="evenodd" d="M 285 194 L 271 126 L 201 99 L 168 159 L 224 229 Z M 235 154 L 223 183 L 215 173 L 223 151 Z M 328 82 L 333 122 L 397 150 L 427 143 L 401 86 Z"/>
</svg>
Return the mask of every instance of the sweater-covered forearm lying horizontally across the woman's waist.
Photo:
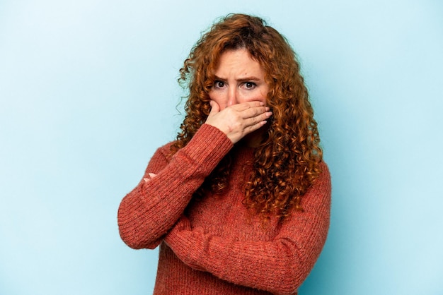
<svg viewBox="0 0 443 295">
<path fill-rule="evenodd" d="M 196 270 L 234 284 L 292 294 L 309 275 L 321 252 L 322 239 L 310 247 L 292 239 L 226 241 L 202 231 L 171 231 L 165 238 L 178 258 Z"/>
</svg>

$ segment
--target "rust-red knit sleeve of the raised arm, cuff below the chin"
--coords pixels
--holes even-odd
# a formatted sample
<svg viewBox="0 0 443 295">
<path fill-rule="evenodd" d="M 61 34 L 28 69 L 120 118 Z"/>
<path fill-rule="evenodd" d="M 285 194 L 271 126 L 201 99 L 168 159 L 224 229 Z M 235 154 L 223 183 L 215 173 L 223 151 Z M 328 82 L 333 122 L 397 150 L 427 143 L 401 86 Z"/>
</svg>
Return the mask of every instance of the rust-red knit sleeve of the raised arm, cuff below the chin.
<svg viewBox="0 0 443 295">
<path fill-rule="evenodd" d="M 168 161 L 171 145 L 159 148 L 151 158 L 143 179 L 120 203 L 117 222 L 120 236 L 131 248 L 155 248 L 177 222 L 192 193 L 232 148 L 219 129 L 203 124 L 185 148 Z"/>
</svg>

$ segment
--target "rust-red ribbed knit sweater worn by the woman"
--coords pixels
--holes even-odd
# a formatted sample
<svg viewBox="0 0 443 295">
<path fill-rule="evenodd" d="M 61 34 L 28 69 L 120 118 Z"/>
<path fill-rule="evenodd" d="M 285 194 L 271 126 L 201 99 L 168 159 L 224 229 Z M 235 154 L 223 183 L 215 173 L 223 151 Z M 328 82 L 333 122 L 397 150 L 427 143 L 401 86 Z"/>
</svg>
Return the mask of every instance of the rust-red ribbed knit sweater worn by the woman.
<svg viewBox="0 0 443 295">
<path fill-rule="evenodd" d="M 266 227 L 242 201 L 252 148 L 236 148 L 229 191 L 192 198 L 233 148 L 219 129 L 204 124 L 167 159 L 169 145 L 146 168 L 157 174 L 123 198 L 120 236 L 132 248 L 160 245 L 154 294 L 297 294 L 321 253 L 329 227 L 330 176 L 323 172 L 302 198 L 304 212 Z"/>
</svg>

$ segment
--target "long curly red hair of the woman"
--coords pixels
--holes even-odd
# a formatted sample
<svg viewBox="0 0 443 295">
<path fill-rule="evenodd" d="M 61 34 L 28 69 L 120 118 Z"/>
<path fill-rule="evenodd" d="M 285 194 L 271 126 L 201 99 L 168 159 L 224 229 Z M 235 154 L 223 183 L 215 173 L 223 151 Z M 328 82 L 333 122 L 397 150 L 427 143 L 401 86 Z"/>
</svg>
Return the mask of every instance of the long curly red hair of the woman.
<svg viewBox="0 0 443 295">
<path fill-rule="evenodd" d="M 192 48 L 178 79 L 189 93 L 185 119 L 171 155 L 183 148 L 205 123 L 219 57 L 232 49 L 247 49 L 263 67 L 270 88 L 266 104 L 272 110 L 267 131 L 255 149 L 244 203 L 265 218 L 284 218 L 294 208 L 302 210 L 301 198 L 321 173 L 323 153 L 295 53 L 287 40 L 263 19 L 229 14 L 212 25 Z M 230 154 L 207 177 L 198 194 L 228 189 Z"/>
</svg>

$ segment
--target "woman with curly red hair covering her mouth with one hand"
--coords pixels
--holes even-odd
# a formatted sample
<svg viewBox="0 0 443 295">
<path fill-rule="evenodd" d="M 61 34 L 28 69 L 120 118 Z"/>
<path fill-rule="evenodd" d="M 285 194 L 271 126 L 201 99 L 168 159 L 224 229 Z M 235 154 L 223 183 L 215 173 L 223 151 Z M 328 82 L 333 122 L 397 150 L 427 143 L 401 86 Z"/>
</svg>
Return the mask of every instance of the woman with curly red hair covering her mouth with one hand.
<svg viewBox="0 0 443 295">
<path fill-rule="evenodd" d="M 123 198 L 120 236 L 160 245 L 154 294 L 294 294 L 329 227 L 330 176 L 287 41 L 231 14 L 192 48 L 177 140 Z"/>
</svg>

